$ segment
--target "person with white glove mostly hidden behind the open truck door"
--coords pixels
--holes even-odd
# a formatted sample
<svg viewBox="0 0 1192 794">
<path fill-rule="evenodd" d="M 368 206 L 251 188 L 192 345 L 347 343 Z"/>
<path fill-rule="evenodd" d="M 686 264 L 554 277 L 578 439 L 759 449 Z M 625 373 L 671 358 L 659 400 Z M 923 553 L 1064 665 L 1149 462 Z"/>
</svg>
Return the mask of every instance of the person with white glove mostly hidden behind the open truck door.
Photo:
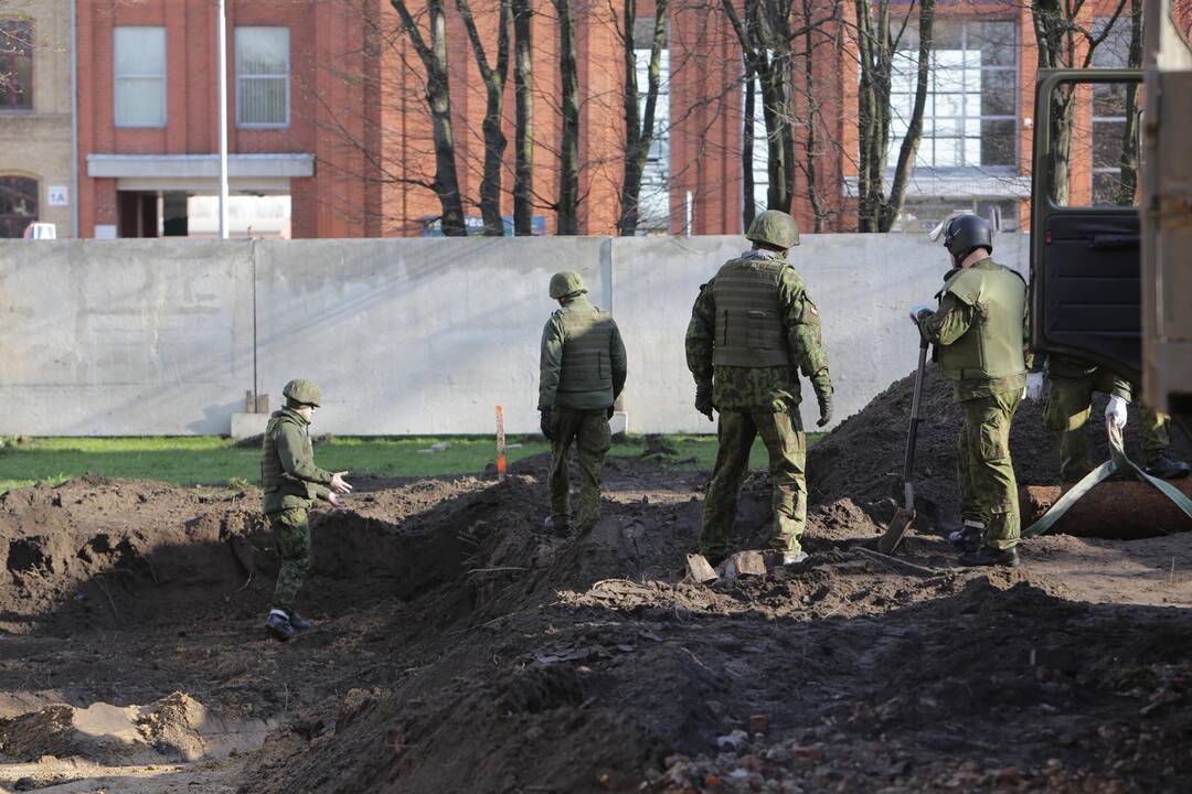
<svg viewBox="0 0 1192 794">
<path fill-rule="evenodd" d="M 1063 482 L 1079 482 L 1093 470 L 1088 451 L 1088 414 L 1093 392 L 1110 395 L 1106 415 L 1120 411 L 1130 402 L 1130 383 L 1097 364 L 1070 356 L 1048 357 L 1048 399 L 1044 418 L 1060 445 L 1060 477 Z M 1120 401 L 1120 402 L 1118 402 Z M 1172 445 L 1168 431 L 1171 417 L 1138 406 L 1142 426 L 1142 451 L 1147 457 L 1147 474 L 1155 477 L 1186 477 L 1188 464 L 1167 455 Z"/>
</svg>

